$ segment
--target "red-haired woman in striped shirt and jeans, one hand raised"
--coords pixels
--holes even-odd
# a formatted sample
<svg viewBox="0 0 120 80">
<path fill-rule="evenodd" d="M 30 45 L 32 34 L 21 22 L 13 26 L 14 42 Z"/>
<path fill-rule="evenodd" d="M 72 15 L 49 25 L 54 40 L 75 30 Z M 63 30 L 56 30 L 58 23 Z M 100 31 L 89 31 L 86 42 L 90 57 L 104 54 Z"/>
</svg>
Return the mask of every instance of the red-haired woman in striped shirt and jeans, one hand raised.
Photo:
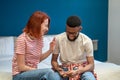
<svg viewBox="0 0 120 80">
<path fill-rule="evenodd" d="M 13 80 L 55 80 L 52 69 L 37 69 L 37 64 L 54 50 L 55 39 L 50 48 L 42 54 L 43 35 L 48 31 L 49 16 L 36 11 L 29 18 L 23 33 L 18 36 L 12 61 Z"/>
</svg>

